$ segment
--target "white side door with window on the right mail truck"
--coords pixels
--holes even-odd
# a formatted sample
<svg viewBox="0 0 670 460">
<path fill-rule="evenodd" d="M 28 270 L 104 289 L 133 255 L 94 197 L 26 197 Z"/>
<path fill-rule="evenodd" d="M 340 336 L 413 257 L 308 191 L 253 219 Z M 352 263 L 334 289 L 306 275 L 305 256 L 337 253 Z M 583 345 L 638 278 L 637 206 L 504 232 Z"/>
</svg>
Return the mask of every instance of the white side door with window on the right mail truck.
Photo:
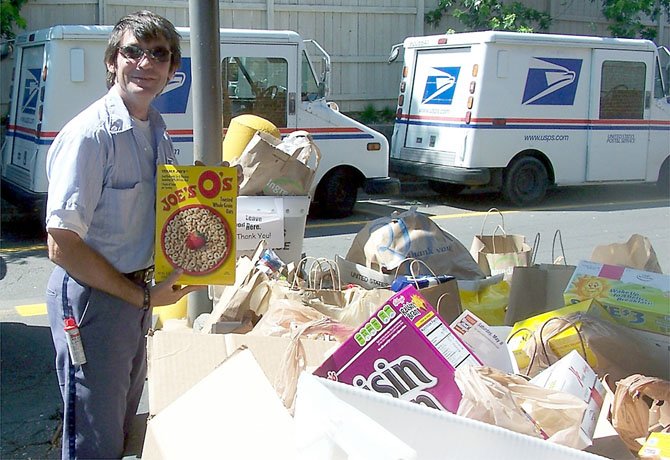
<svg viewBox="0 0 670 460">
<path fill-rule="evenodd" d="M 653 53 L 594 50 L 592 69 L 586 179 L 642 180 Z"/>
</svg>

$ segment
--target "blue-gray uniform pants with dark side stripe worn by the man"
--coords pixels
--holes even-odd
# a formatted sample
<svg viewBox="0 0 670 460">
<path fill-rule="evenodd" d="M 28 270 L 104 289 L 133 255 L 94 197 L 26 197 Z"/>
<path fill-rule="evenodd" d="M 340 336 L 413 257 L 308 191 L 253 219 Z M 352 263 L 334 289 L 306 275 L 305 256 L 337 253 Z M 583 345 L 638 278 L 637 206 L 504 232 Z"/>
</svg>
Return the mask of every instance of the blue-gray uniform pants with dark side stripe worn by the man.
<svg viewBox="0 0 670 460">
<path fill-rule="evenodd" d="M 47 310 L 64 403 L 62 458 L 121 458 L 146 379 L 151 313 L 78 283 L 60 267 L 49 279 Z M 87 360 L 81 366 L 67 348 L 69 316 L 79 324 Z"/>
</svg>

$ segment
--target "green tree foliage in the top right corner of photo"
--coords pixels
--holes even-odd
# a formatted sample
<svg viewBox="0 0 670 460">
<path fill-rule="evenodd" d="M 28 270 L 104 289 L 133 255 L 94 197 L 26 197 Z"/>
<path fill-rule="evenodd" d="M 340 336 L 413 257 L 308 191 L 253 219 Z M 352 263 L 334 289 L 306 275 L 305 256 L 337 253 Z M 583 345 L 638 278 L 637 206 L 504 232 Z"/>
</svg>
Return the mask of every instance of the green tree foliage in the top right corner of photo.
<svg viewBox="0 0 670 460">
<path fill-rule="evenodd" d="M 596 0 L 591 0 L 596 1 Z M 661 11 L 670 13 L 670 0 L 601 0 L 603 15 L 610 21 L 607 27 L 613 37 L 656 38 L 656 26 L 642 23 L 646 17 L 658 21 Z"/>
</svg>

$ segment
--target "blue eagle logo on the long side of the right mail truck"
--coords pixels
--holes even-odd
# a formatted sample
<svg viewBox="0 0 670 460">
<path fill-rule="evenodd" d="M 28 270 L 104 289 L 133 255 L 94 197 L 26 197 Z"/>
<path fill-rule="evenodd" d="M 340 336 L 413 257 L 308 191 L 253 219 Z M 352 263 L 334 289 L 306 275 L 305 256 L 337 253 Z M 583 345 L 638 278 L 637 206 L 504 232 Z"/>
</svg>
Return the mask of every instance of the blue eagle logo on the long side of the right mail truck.
<svg viewBox="0 0 670 460">
<path fill-rule="evenodd" d="M 573 105 L 581 68 L 581 59 L 534 57 L 522 104 Z"/>
</svg>

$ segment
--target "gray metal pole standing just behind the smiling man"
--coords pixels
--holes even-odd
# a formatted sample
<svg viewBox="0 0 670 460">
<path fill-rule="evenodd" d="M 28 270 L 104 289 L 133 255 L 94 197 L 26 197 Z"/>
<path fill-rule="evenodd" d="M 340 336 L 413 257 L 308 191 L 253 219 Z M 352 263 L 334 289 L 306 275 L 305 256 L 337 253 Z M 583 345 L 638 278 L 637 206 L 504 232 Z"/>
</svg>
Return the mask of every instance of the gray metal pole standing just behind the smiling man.
<svg viewBox="0 0 670 460">
<path fill-rule="evenodd" d="M 191 33 L 191 78 L 193 88 L 193 159 L 206 165 L 221 162 L 223 136 L 221 66 L 219 52 L 219 2 L 188 2 Z M 187 322 L 212 311 L 212 301 L 203 289 L 188 295 Z"/>
</svg>

